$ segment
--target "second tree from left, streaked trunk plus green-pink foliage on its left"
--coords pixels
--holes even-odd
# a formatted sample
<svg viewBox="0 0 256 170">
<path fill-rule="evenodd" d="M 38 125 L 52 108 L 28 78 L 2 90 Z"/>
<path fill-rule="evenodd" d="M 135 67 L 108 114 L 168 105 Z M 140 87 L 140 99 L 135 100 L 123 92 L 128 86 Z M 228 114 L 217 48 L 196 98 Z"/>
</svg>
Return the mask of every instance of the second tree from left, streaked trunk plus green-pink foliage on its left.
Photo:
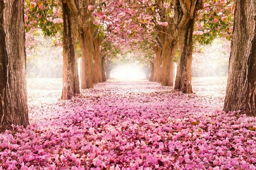
<svg viewBox="0 0 256 170">
<path fill-rule="evenodd" d="M 61 99 L 80 94 L 76 55 L 77 0 L 26 0 L 26 29 L 41 28 L 45 35 L 63 34 L 63 89 Z M 61 7 L 60 7 L 61 6 Z M 62 8 L 62 13 L 61 13 Z"/>
</svg>

